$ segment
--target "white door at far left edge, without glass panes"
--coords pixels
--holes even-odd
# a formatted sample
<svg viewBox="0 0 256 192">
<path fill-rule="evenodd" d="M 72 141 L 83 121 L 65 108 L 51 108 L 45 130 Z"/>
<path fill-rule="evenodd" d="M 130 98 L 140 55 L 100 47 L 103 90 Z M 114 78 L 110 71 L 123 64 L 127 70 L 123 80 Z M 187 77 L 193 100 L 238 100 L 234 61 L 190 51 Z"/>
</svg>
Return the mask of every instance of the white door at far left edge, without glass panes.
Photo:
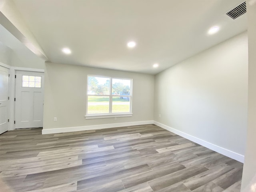
<svg viewBox="0 0 256 192">
<path fill-rule="evenodd" d="M 9 69 L 0 66 L 0 134 L 8 131 Z"/>
</svg>

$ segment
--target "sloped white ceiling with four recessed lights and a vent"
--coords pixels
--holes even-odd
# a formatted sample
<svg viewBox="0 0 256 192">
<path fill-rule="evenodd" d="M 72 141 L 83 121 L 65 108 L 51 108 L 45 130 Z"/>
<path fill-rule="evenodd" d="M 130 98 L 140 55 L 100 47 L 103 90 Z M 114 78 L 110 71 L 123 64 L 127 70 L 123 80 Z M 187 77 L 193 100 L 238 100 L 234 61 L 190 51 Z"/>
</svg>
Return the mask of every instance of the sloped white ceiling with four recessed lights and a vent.
<svg viewBox="0 0 256 192">
<path fill-rule="evenodd" d="M 243 0 L 14 0 L 50 62 L 157 74 L 247 30 Z M 208 35 L 212 26 L 218 33 Z M 136 42 L 133 49 L 128 41 Z M 65 55 L 64 47 L 72 53 Z M 158 68 L 152 65 L 158 63 Z"/>
</svg>

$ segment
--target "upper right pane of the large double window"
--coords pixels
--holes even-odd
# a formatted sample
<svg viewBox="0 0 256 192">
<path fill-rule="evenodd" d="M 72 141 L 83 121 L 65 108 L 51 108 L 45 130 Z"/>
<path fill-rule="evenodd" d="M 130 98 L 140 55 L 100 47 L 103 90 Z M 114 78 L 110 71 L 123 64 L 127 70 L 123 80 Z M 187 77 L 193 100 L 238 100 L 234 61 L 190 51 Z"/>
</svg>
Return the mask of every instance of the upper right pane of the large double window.
<svg viewBox="0 0 256 192">
<path fill-rule="evenodd" d="M 112 95 L 130 95 L 131 80 L 112 78 Z"/>
</svg>

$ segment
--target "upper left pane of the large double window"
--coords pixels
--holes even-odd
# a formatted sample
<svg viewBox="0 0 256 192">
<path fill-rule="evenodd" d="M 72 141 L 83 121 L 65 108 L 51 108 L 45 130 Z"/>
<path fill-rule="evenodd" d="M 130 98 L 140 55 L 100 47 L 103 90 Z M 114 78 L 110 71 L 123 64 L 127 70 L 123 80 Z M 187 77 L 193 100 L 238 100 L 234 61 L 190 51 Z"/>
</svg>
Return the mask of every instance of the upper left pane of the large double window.
<svg viewBox="0 0 256 192">
<path fill-rule="evenodd" d="M 90 95 L 109 95 L 110 78 L 88 76 L 88 90 Z"/>
</svg>

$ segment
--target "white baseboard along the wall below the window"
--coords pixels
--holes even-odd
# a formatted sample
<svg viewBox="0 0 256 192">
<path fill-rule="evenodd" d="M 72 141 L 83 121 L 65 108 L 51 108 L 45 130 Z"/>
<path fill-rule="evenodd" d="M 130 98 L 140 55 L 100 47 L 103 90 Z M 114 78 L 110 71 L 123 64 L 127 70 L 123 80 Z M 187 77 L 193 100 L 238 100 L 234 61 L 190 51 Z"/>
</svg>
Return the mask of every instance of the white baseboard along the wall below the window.
<svg viewBox="0 0 256 192">
<path fill-rule="evenodd" d="M 151 120 L 151 121 L 136 121 L 136 122 L 126 122 L 126 123 L 90 125 L 90 126 L 81 126 L 81 127 L 65 127 L 65 128 L 55 128 L 55 129 L 43 129 L 42 134 L 65 133 L 65 132 L 74 132 L 74 131 L 87 131 L 87 130 L 95 130 L 95 129 L 106 129 L 106 128 L 114 128 L 114 127 L 147 125 L 147 124 L 154 124 L 154 121 L 153 120 Z"/>
</svg>

